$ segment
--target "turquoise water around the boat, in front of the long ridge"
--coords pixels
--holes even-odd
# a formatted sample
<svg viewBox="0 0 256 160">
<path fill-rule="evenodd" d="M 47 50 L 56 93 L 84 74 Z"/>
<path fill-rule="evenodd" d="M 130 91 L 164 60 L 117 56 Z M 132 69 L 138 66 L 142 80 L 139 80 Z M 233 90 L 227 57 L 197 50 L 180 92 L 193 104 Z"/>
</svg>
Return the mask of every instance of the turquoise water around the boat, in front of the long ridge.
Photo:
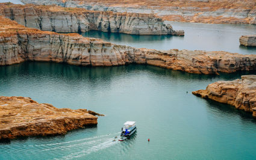
<svg viewBox="0 0 256 160">
<path fill-rule="evenodd" d="M 194 75 L 153 66 L 33 62 L 2 66 L 0 95 L 106 116 L 98 118 L 98 126 L 67 135 L 0 143 L 0 159 L 255 159 L 251 114 L 191 94 L 211 82 L 252 73 Z M 128 120 L 137 122 L 136 135 L 113 142 Z"/>
</svg>

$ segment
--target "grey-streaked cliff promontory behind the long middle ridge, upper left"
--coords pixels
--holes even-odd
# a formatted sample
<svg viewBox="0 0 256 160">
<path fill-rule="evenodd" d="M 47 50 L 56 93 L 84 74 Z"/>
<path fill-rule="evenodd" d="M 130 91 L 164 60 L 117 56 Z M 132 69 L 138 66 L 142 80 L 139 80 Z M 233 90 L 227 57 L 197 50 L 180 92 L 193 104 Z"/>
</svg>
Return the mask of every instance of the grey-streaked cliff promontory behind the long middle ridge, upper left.
<svg viewBox="0 0 256 160">
<path fill-rule="evenodd" d="M 112 11 L 88 11 L 83 8 L 63 8 L 43 5 L 0 5 L 0 15 L 15 20 L 21 25 L 43 31 L 120 32 L 141 35 L 184 35 L 174 31 L 154 14 L 113 13 Z"/>
</svg>

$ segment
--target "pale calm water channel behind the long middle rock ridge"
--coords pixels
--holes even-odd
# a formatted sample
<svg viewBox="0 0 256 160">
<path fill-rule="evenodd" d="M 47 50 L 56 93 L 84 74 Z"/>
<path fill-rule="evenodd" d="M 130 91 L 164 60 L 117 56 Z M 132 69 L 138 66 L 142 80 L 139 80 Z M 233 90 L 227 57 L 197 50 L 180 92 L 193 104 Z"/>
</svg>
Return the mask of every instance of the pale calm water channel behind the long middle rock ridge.
<svg viewBox="0 0 256 160">
<path fill-rule="evenodd" d="M 184 29 L 185 36 L 129 35 L 90 31 L 85 37 L 102 38 L 105 41 L 151 49 L 189 49 L 204 51 L 227 51 L 239 54 L 256 54 L 256 48 L 240 46 L 241 35 L 256 34 L 256 25 L 218 25 L 205 23 L 166 22 L 173 29 Z"/>
</svg>

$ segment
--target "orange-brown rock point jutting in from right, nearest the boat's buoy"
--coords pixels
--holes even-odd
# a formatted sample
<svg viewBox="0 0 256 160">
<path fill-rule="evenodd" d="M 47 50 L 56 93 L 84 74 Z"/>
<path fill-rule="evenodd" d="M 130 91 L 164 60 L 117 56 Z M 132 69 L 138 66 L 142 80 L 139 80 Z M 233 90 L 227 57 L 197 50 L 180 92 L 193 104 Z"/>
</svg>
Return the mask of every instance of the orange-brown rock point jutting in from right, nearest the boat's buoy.
<svg viewBox="0 0 256 160">
<path fill-rule="evenodd" d="M 206 90 L 193 91 L 193 94 L 217 102 L 235 106 L 237 109 L 253 112 L 256 117 L 256 75 L 242 76 L 234 81 L 217 81 L 209 84 Z"/>
</svg>

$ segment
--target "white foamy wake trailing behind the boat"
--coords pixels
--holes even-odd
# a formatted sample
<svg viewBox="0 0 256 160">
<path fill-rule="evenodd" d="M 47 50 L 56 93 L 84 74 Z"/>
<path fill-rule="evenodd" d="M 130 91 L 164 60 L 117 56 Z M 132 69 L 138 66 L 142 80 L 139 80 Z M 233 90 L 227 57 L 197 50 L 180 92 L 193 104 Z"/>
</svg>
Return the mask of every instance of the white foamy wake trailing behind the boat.
<svg viewBox="0 0 256 160">
<path fill-rule="evenodd" d="M 8 152 L 22 153 L 25 155 L 33 155 L 33 153 L 37 153 L 38 155 L 48 154 L 54 159 L 75 159 L 117 144 L 118 139 L 114 137 L 118 134 L 120 132 L 51 144 L 13 145 L 8 149 Z M 113 141 L 114 139 L 116 141 Z"/>
</svg>

